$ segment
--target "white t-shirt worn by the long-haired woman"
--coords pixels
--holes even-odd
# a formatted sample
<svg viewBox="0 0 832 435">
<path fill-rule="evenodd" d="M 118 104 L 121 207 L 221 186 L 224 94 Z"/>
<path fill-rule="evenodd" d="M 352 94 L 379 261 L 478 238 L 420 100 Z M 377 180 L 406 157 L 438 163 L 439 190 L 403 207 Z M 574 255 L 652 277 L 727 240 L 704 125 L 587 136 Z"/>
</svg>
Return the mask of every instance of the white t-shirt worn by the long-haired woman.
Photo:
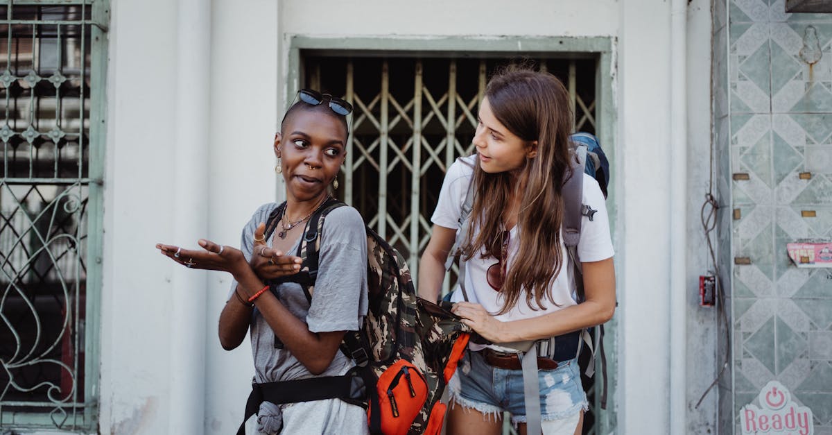
<svg viewBox="0 0 832 435">
<path fill-rule="evenodd" d="M 479 164 L 476 154 L 466 158 L 458 158 L 445 174 L 445 181 L 442 184 L 442 192 L 439 193 L 439 202 L 433 212 L 431 221 L 440 227 L 458 230 L 459 215 L 465 203 L 465 195 L 468 193 L 468 184 L 473 176 L 473 165 Z M 607 207 L 604 203 L 604 195 L 595 178 L 583 174 L 583 203 L 593 210 L 597 210 L 592 221 L 586 216 L 582 218 L 581 241 L 577 245 L 577 253 L 584 263 L 597 262 L 611 258 L 614 251 L 610 238 L 610 226 L 607 219 Z M 472 228 L 477 231 L 477 228 Z M 508 243 L 508 268 L 511 268 L 520 246 L 518 226 L 511 229 Z M 561 238 L 561 241 L 563 238 Z M 532 298 L 532 307 L 529 308 L 524 295 L 520 295 L 518 303 L 508 310 L 507 313 L 495 316 L 498 320 L 509 322 L 523 318 L 536 318 L 544 314 L 552 313 L 561 308 L 575 305 L 575 277 L 572 264 L 569 261 L 566 245 L 561 243 L 561 258 L 563 264 L 557 278 L 552 282 L 553 304 L 548 298 L 542 298 L 542 308 L 537 308 L 537 303 Z M 502 293 L 495 291 L 488 285 L 486 271 L 497 263 L 496 258 L 481 258 L 480 254 L 474 255 L 468 260 L 465 269 L 465 289 L 468 293 L 469 302 L 479 303 L 489 313 L 496 314 L 503 308 Z M 462 292 L 454 291 L 452 302 L 463 300 Z"/>
</svg>

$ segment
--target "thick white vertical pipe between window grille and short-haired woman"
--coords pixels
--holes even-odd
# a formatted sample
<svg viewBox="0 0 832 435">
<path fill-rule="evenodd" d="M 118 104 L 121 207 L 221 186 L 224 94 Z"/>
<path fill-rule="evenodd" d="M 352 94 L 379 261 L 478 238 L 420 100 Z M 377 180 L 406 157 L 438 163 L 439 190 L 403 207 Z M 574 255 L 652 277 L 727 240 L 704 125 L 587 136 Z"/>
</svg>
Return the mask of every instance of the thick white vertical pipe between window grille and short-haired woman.
<svg viewBox="0 0 832 435">
<path fill-rule="evenodd" d="M 205 238 L 208 230 L 210 0 L 179 0 L 176 28 L 176 135 L 170 143 L 176 170 L 171 216 L 176 240 L 187 248 L 198 248 L 197 239 Z M 186 268 L 173 273 L 168 433 L 204 432 L 206 278 L 206 272 Z"/>
</svg>

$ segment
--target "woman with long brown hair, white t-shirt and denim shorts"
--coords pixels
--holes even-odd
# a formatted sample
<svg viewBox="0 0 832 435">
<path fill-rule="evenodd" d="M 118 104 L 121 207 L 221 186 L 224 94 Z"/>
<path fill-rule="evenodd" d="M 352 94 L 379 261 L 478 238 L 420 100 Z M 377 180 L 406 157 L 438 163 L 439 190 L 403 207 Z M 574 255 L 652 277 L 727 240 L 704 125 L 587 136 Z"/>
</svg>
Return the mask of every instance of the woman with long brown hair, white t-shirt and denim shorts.
<svg viewBox="0 0 832 435">
<path fill-rule="evenodd" d="M 581 433 L 587 398 L 577 367 L 580 331 L 612 318 L 615 271 L 607 209 L 596 180 L 571 173 L 572 110 L 557 77 L 509 67 L 488 83 L 473 143 L 477 153 L 448 168 L 433 233 L 423 253 L 418 288 L 438 298 L 463 203 L 473 183 L 464 288 L 453 308 L 492 344 L 474 344 L 449 384 L 448 433 L 500 431 L 503 411 L 525 433 L 521 359 L 500 343 L 553 340 L 537 358 L 543 433 Z M 563 180 L 583 177 L 583 217 L 577 246 L 585 296 L 577 301 L 575 273 L 563 243 Z M 552 341 L 550 341 L 552 343 Z"/>
</svg>

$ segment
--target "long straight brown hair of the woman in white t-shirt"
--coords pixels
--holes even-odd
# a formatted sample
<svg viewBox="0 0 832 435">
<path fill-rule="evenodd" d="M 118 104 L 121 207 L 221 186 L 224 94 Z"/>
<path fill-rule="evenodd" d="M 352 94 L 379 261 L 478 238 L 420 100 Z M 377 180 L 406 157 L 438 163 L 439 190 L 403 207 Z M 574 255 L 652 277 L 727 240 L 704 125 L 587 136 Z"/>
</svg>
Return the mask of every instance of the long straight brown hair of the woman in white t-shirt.
<svg viewBox="0 0 832 435">
<path fill-rule="evenodd" d="M 510 66 L 498 72 L 485 90 L 485 97 L 498 121 L 523 141 L 537 141 L 537 154 L 527 158 L 518 175 L 486 173 L 474 165 L 474 201 L 465 256 L 483 251 L 483 258 L 500 258 L 503 213 L 515 195 L 520 196 L 518 230 L 520 246 L 508 268 L 500 293 L 504 305 L 499 314 L 518 303 L 521 288 L 532 310 L 542 308 L 546 296 L 552 303 L 550 285 L 564 263 L 561 243 L 563 217 L 562 183 L 572 175 L 569 166 L 569 133 L 572 108 L 569 93 L 557 77 L 525 67 Z M 518 186 L 525 186 L 520 192 Z M 503 258 L 508 261 L 508 258 Z M 532 306 L 532 298 L 537 308 Z"/>
</svg>

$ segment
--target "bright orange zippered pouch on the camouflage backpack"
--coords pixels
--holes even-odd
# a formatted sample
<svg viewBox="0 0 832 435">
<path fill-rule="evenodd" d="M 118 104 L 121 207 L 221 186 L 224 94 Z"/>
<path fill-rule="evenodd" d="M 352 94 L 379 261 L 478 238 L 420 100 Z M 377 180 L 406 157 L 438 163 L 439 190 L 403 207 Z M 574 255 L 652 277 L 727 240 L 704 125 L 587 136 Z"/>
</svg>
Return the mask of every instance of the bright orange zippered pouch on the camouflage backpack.
<svg viewBox="0 0 832 435">
<path fill-rule="evenodd" d="M 384 371 L 376 383 L 379 390 L 381 432 L 406 435 L 428 399 L 428 385 L 413 364 L 400 359 Z"/>
</svg>

